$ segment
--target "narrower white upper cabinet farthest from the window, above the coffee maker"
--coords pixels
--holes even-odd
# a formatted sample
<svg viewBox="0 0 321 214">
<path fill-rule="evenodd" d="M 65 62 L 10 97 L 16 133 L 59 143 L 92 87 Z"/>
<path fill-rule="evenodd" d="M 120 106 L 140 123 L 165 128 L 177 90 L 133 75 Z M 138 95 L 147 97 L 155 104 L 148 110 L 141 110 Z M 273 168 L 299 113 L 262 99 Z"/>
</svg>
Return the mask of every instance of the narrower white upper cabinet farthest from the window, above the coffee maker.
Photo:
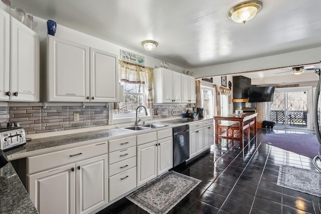
<svg viewBox="0 0 321 214">
<path fill-rule="evenodd" d="M 182 74 L 182 102 L 196 102 L 195 78 L 184 74 Z"/>
</svg>

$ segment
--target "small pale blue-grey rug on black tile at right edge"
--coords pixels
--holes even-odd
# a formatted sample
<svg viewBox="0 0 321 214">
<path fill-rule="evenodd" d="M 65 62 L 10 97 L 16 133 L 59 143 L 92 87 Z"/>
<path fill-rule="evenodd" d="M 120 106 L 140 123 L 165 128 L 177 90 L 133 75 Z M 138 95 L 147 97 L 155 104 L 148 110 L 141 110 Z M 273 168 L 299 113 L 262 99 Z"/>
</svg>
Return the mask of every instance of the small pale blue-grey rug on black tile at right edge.
<svg viewBox="0 0 321 214">
<path fill-rule="evenodd" d="M 321 197 L 321 173 L 280 165 L 277 185 Z"/>
</svg>

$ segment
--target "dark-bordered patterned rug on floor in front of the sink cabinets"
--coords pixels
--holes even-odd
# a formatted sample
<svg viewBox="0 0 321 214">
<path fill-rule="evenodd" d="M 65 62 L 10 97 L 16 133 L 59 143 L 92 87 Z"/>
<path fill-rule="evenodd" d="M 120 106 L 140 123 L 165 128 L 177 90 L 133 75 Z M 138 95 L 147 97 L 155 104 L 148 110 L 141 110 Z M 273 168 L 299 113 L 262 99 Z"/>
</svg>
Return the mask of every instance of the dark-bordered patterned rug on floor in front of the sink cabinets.
<svg viewBox="0 0 321 214">
<path fill-rule="evenodd" d="M 170 171 L 126 198 L 149 213 L 163 214 L 170 211 L 200 182 L 194 177 Z"/>
</svg>

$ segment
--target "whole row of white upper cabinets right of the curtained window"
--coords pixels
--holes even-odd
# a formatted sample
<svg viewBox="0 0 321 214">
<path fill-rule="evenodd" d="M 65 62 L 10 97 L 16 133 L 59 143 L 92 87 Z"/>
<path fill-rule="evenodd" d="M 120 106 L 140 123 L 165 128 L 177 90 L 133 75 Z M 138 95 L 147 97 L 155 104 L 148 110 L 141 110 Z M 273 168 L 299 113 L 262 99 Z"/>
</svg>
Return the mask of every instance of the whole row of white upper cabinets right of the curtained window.
<svg viewBox="0 0 321 214">
<path fill-rule="evenodd" d="M 166 68 L 154 69 L 155 103 L 195 103 L 195 78 Z"/>
</svg>

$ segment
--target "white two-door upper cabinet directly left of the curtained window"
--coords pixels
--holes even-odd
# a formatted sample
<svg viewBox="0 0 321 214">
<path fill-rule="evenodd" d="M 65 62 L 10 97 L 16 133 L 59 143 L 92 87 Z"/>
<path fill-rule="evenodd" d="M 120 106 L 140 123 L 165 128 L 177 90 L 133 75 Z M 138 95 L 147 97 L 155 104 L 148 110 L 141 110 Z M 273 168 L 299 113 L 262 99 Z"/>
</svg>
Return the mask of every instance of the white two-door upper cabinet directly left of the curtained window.
<svg viewBox="0 0 321 214">
<path fill-rule="evenodd" d="M 50 35 L 43 52 L 43 101 L 117 102 L 116 55 Z"/>
</svg>

